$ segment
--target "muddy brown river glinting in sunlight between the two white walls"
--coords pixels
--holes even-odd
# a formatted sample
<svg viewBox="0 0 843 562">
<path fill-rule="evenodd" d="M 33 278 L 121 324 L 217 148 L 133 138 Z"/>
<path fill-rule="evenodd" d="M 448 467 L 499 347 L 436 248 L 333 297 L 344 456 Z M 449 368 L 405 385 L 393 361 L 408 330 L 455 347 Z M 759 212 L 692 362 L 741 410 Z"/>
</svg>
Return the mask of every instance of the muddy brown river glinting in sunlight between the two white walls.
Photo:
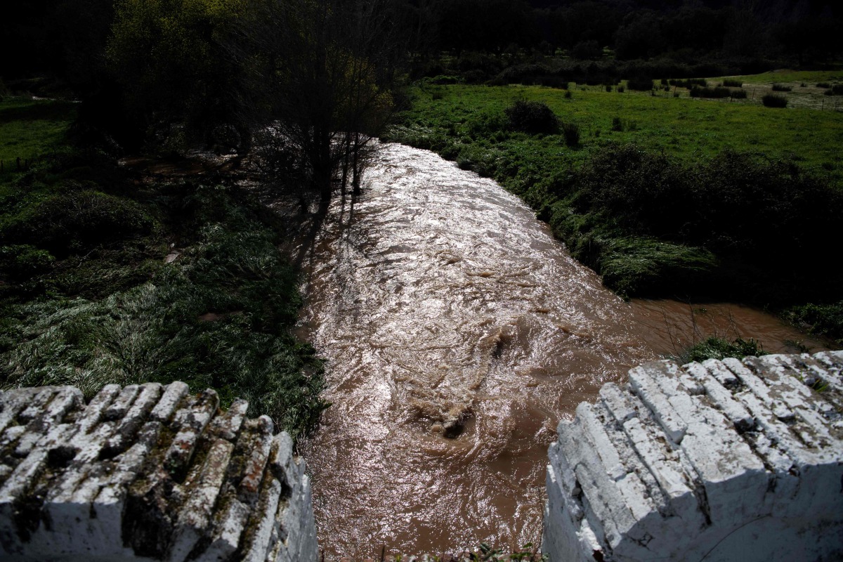
<svg viewBox="0 0 843 562">
<path fill-rule="evenodd" d="M 518 198 L 433 153 L 386 145 L 364 187 L 304 264 L 332 404 L 302 446 L 327 559 L 539 543 L 556 424 L 604 383 L 712 332 L 821 349 L 752 308 L 623 302 Z"/>
</svg>

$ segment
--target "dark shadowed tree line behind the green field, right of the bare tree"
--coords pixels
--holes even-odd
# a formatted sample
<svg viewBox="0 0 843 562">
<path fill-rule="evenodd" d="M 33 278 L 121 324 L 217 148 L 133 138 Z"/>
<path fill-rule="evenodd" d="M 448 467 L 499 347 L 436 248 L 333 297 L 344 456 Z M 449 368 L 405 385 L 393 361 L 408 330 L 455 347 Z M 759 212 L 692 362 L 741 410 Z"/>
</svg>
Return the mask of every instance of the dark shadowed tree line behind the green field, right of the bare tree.
<svg viewBox="0 0 843 562">
<path fill-rule="evenodd" d="M 503 52 L 563 49 L 619 60 L 672 56 L 840 56 L 841 10 L 830 2 L 679 2 L 678 0 L 415 0 L 427 49 Z"/>
</svg>

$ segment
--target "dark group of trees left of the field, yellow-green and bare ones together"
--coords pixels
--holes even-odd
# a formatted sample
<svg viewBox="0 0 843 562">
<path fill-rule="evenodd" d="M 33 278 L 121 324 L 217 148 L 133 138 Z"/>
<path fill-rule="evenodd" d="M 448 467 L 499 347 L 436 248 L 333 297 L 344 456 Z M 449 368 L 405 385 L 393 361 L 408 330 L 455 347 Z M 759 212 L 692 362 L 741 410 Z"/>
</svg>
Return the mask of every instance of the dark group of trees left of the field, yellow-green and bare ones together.
<svg viewBox="0 0 843 562">
<path fill-rule="evenodd" d="M 21 56 L 2 78 L 62 79 L 92 142 L 260 142 L 327 201 L 337 174 L 357 188 L 392 114 L 410 21 L 403 0 L 35 0 L 3 37 Z"/>
</svg>

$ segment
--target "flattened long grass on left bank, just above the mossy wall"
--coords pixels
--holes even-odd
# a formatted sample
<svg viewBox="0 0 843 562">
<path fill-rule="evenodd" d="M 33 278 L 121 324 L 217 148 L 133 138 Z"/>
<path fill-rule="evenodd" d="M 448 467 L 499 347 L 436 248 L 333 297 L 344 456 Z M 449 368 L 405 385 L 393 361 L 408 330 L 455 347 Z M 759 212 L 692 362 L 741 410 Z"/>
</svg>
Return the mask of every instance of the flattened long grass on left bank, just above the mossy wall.
<svg viewBox="0 0 843 562">
<path fill-rule="evenodd" d="M 294 438 L 314 426 L 320 361 L 287 332 L 301 298 L 277 235 L 231 190 L 191 199 L 199 237 L 153 281 L 99 301 L 8 304 L 3 387 L 73 384 L 90 396 L 106 383 L 183 380 L 217 389 L 223 404 L 250 400 L 250 415 L 271 415 Z"/>
</svg>

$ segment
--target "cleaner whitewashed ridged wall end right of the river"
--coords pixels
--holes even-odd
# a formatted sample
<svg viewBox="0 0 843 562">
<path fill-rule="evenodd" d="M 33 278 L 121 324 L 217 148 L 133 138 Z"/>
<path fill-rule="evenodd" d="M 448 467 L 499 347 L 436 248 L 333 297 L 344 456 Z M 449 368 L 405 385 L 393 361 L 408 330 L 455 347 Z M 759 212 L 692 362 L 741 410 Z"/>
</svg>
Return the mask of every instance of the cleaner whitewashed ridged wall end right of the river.
<svg viewBox="0 0 843 562">
<path fill-rule="evenodd" d="M 593 560 L 843 559 L 843 352 L 653 361 L 549 450 L 542 551 Z"/>
</svg>

